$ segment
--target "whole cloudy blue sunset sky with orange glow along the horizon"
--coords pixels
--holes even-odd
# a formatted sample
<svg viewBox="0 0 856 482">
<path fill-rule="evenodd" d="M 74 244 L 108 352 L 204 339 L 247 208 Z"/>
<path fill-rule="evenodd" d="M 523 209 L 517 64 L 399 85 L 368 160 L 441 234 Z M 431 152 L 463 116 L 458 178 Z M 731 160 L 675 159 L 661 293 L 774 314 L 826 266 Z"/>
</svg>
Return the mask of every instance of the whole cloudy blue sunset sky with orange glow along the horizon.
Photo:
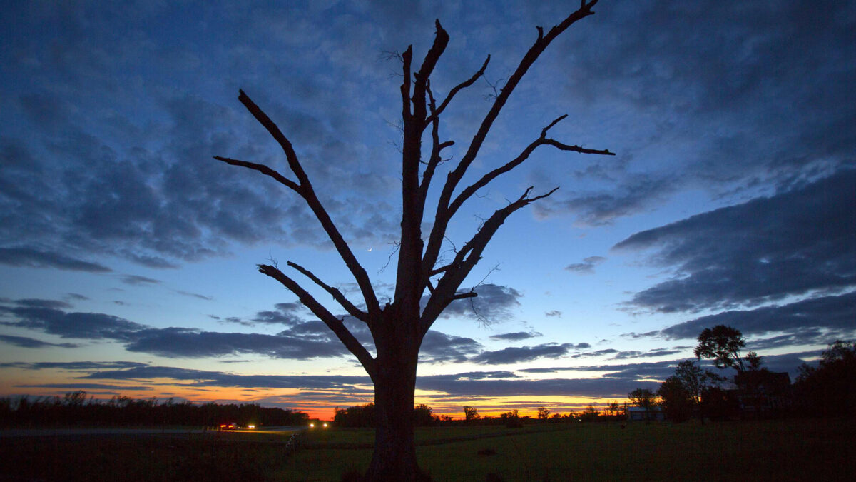
<svg viewBox="0 0 856 482">
<path fill-rule="evenodd" d="M 288 172 L 238 89 L 294 142 L 383 299 L 401 210 L 395 52 L 413 44 L 420 63 L 439 19 L 441 98 L 490 54 L 444 113 L 454 166 L 536 26 L 576 5 L 4 5 L 0 396 L 83 389 L 322 418 L 372 401 L 356 359 L 255 268 L 299 262 L 360 301 L 294 193 L 212 159 Z M 456 218 L 449 253 L 528 186 L 560 187 L 502 226 L 463 284 L 479 297 L 425 338 L 417 398 L 435 413 L 622 401 L 716 324 L 792 378 L 856 334 L 856 3 L 595 11 L 529 71 L 471 178 L 562 114 L 550 136 L 617 155 L 539 148 Z"/>
</svg>

